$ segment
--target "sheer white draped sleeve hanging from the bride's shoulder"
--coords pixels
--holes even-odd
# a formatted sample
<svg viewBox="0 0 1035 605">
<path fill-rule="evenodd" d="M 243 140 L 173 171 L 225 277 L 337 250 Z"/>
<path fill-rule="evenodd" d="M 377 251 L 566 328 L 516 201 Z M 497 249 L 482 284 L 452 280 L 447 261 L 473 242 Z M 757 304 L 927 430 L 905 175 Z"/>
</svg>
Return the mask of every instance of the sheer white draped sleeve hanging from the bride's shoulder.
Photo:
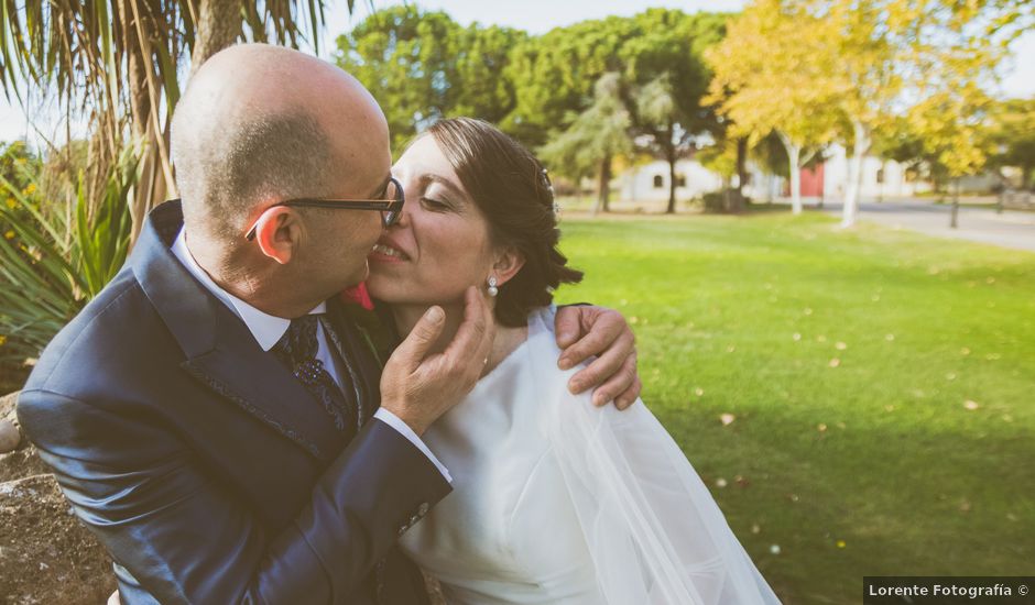
<svg viewBox="0 0 1035 605">
<path fill-rule="evenodd" d="M 554 371 L 542 429 L 607 603 L 780 603 L 676 442 L 638 400 L 597 408 Z"/>
</svg>

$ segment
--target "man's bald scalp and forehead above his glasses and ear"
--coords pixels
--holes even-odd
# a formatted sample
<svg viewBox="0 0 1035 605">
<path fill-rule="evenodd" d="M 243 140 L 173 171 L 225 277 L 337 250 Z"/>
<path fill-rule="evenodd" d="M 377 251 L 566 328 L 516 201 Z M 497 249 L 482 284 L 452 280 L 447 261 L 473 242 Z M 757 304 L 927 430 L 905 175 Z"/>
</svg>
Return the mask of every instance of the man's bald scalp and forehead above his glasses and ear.
<svg viewBox="0 0 1035 605">
<path fill-rule="evenodd" d="M 210 241 L 239 238 L 275 201 L 366 193 L 390 163 L 384 116 L 355 78 L 264 44 L 232 46 L 197 70 L 172 143 L 185 223 Z"/>
</svg>

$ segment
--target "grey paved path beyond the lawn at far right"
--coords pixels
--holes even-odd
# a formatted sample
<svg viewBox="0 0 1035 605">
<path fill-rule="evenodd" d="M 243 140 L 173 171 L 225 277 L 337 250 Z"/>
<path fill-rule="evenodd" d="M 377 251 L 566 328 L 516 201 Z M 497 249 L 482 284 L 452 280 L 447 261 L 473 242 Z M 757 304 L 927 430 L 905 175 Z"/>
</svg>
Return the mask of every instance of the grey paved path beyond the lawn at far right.
<svg viewBox="0 0 1035 605">
<path fill-rule="evenodd" d="M 840 202 L 827 202 L 824 211 L 841 216 Z M 949 204 L 906 199 L 884 202 L 863 202 L 859 208 L 859 220 L 889 227 L 911 229 L 928 235 L 958 238 L 1003 248 L 1035 252 L 1035 212 L 1004 210 L 996 215 L 994 208 L 959 209 L 957 229 L 949 228 L 952 208 Z"/>
</svg>

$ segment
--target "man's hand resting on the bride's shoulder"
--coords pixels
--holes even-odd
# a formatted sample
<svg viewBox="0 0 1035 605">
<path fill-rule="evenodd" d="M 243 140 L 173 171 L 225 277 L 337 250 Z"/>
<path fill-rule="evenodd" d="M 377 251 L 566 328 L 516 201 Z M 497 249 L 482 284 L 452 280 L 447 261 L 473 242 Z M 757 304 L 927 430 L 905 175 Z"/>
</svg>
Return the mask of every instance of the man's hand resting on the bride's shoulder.
<svg viewBox="0 0 1035 605">
<path fill-rule="evenodd" d="M 640 396 L 636 375 L 636 337 L 618 311 L 603 307 L 560 307 L 555 320 L 557 346 L 563 349 L 557 365 L 567 370 L 597 355 L 587 367 L 571 376 L 568 389 L 578 394 L 596 387 L 593 404 L 614 399 L 625 409 Z"/>
</svg>

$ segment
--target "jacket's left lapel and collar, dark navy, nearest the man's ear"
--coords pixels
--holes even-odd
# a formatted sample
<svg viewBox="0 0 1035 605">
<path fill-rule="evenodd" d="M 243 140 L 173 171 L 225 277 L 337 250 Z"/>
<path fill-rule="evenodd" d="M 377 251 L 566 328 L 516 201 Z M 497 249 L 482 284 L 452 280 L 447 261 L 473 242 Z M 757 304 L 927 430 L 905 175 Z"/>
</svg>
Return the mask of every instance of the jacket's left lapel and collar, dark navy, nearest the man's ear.
<svg viewBox="0 0 1035 605">
<path fill-rule="evenodd" d="M 324 410 L 170 251 L 182 226 L 178 202 L 155 208 L 129 261 L 186 356 L 182 367 L 310 455 L 330 462 L 341 447 L 340 435 Z"/>
</svg>

